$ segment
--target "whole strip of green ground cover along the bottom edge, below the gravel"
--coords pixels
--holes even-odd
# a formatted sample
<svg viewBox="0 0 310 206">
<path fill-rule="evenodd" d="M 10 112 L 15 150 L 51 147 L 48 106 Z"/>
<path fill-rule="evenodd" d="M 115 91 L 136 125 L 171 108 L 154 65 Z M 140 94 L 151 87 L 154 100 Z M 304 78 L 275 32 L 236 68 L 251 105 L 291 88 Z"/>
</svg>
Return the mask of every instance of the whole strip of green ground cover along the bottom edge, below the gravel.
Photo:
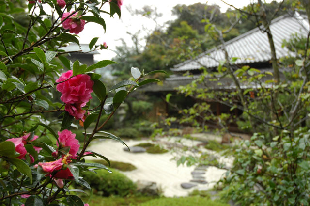
<svg viewBox="0 0 310 206">
<path fill-rule="evenodd" d="M 229 206 L 207 197 L 101 197 L 94 195 L 90 206 Z"/>
</svg>

